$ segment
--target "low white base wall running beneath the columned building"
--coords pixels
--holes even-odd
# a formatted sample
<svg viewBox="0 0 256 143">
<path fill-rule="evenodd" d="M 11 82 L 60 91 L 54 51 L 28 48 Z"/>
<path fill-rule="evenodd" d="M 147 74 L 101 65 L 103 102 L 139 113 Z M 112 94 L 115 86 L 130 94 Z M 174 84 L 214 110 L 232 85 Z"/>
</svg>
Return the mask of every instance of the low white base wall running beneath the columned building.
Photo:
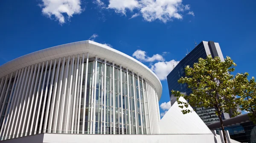
<svg viewBox="0 0 256 143">
<path fill-rule="evenodd" d="M 40 134 L 0 143 L 215 143 L 213 134 L 200 135 L 79 135 Z"/>
</svg>

